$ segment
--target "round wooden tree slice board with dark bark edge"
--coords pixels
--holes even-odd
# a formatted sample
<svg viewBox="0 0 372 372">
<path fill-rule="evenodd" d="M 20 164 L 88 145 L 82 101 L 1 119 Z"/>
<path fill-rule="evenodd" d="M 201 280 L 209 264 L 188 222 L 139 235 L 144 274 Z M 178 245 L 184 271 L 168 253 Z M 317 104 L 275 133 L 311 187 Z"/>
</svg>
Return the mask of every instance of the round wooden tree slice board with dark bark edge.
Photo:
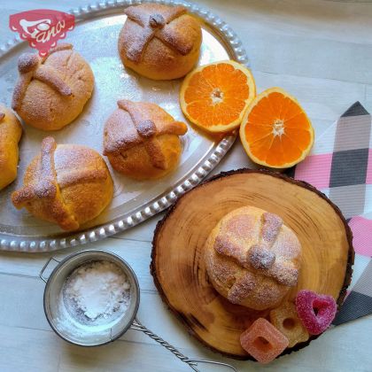
<svg viewBox="0 0 372 372">
<path fill-rule="evenodd" d="M 236 359 L 252 359 L 241 347 L 239 336 L 268 312 L 254 312 L 222 298 L 208 281 L 203 250 L 221 217 L 244 205 L 280 215 L 298 236 L 303 263 L 298 286 L 287 298 L 308 289 L 337 298 L 340 306 L 351 281 L 354 257 L 352 233 L 341 212 L 305 182 L 242 169 L 220 174 L 182 196 L 155 231 L 151 274 L 160 296 L 190 334 L 213 351 Z"/>
</svg>

